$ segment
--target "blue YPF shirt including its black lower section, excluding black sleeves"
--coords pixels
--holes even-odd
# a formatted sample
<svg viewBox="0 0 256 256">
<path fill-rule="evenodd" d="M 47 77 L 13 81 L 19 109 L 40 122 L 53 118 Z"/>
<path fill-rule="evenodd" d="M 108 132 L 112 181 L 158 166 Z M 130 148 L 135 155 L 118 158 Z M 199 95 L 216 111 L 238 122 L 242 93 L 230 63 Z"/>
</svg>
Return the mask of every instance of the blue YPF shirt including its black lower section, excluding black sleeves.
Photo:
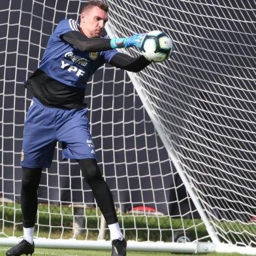
<svg viewBox="0 0 256 256">
<path fill-rule="evenodd" d="M 61 20 L 48 41 L 39 69 L 25 82 L 25 88 L 47 106 L 83 108 L 89 77 L 118 51 L 82 52 L 62 39 L 69 31 L 79 31 L 78 22 Z"/>
</svg>

